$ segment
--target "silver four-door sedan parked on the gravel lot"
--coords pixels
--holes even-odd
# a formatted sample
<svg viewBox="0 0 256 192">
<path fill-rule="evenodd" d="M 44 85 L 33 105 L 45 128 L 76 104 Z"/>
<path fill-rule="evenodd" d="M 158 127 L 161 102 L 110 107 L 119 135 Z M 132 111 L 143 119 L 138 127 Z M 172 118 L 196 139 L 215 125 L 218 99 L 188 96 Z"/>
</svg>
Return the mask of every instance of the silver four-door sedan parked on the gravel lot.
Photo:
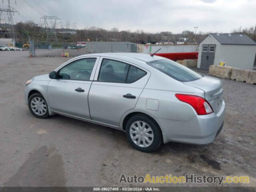
<svg viewBox="0 0 256 192">
<path fill-rule="evenodd" d="M 138 53 L 72 58 L 26 83 L 37 118 L 60 114 L 126 132 L 137 150 L 162 143 L 208 144 L 223 127 L 222 82 L 172 60 Z"/>
</svg>

